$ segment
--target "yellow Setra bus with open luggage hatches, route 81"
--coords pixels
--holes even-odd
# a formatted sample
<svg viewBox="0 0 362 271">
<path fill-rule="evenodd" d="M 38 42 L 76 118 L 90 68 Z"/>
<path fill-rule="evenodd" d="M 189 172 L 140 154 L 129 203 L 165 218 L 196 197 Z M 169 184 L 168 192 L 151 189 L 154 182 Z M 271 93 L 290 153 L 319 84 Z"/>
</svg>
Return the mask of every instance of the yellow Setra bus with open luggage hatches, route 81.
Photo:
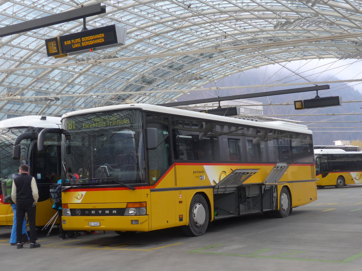
<svg viewBox="0 0 362 271">
<path fill-rule="evenodd" d="M 38 147 L 50 132 L 39 133 Z M 317 199 L 312 132 L 150 104 L 62 116 L 66 230 L 202 235 L 210 221 L 286 217 Z"/>
</svg>

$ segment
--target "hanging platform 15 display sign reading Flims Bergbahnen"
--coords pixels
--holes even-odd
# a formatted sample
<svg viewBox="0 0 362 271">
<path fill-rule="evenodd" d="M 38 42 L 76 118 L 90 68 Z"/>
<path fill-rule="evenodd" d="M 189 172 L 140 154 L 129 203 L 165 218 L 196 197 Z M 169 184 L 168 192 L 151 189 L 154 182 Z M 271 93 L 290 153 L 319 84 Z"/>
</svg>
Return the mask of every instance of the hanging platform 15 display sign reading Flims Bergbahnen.
<svg viewBox="0 0 362 271">
<path fill-rule="evenodd" d="M 126 27 L 108 25 L 45 40 L 47 55 L 62 57 L 125 45 Z"/>
</svg>

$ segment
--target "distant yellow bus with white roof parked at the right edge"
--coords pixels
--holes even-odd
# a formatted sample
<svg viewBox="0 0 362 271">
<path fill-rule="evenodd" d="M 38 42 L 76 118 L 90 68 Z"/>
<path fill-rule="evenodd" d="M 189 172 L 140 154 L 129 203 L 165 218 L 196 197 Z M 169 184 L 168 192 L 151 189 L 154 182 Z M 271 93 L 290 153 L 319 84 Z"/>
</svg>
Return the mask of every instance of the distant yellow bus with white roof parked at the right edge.
<svg viewBox="0 0 362 271">
<path fill-rule="evenodd" d="M 317 188 L 362 183 L 362 152 L 336 149 L 316 149 Z"/>
</svg>

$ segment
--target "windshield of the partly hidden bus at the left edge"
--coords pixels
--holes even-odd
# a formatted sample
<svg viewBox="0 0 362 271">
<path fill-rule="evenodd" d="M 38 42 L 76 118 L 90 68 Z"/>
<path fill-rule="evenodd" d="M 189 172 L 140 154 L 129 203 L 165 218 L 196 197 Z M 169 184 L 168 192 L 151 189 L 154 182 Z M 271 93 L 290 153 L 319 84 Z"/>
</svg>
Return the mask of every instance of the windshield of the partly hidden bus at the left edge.
<svg viewBox="0 0 362 271">
<path fill-rule="evenodd" d="M 26 129 L 0 129 L 0 179 L 12 178 L 13 174 L 19 173 L 19 161 L 13 160 L 13 143 L 14 140 Z M 21 142 L 21 161 L 28 160 L 29 140 Z"/>
</svg>

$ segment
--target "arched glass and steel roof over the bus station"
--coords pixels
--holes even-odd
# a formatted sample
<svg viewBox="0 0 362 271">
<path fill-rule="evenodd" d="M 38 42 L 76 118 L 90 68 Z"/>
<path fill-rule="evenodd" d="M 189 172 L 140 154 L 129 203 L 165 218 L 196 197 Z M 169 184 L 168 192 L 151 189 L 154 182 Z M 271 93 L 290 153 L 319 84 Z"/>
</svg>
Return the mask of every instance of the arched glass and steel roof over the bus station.
<svg viewBox="0 0 362 271">
<path fill-rule="evenodd" d="M 86 18 L 87 29 L 126 27 L 124 46 L 48 57 L 45 39 L 83 20 L 0 38 L 0 119 L 167 103 L 269 64 L 362 55 L 359 0 L 12 0 L 0 1 L 0 27 L 97 3 L 106 13 Z"/>
</svg>

